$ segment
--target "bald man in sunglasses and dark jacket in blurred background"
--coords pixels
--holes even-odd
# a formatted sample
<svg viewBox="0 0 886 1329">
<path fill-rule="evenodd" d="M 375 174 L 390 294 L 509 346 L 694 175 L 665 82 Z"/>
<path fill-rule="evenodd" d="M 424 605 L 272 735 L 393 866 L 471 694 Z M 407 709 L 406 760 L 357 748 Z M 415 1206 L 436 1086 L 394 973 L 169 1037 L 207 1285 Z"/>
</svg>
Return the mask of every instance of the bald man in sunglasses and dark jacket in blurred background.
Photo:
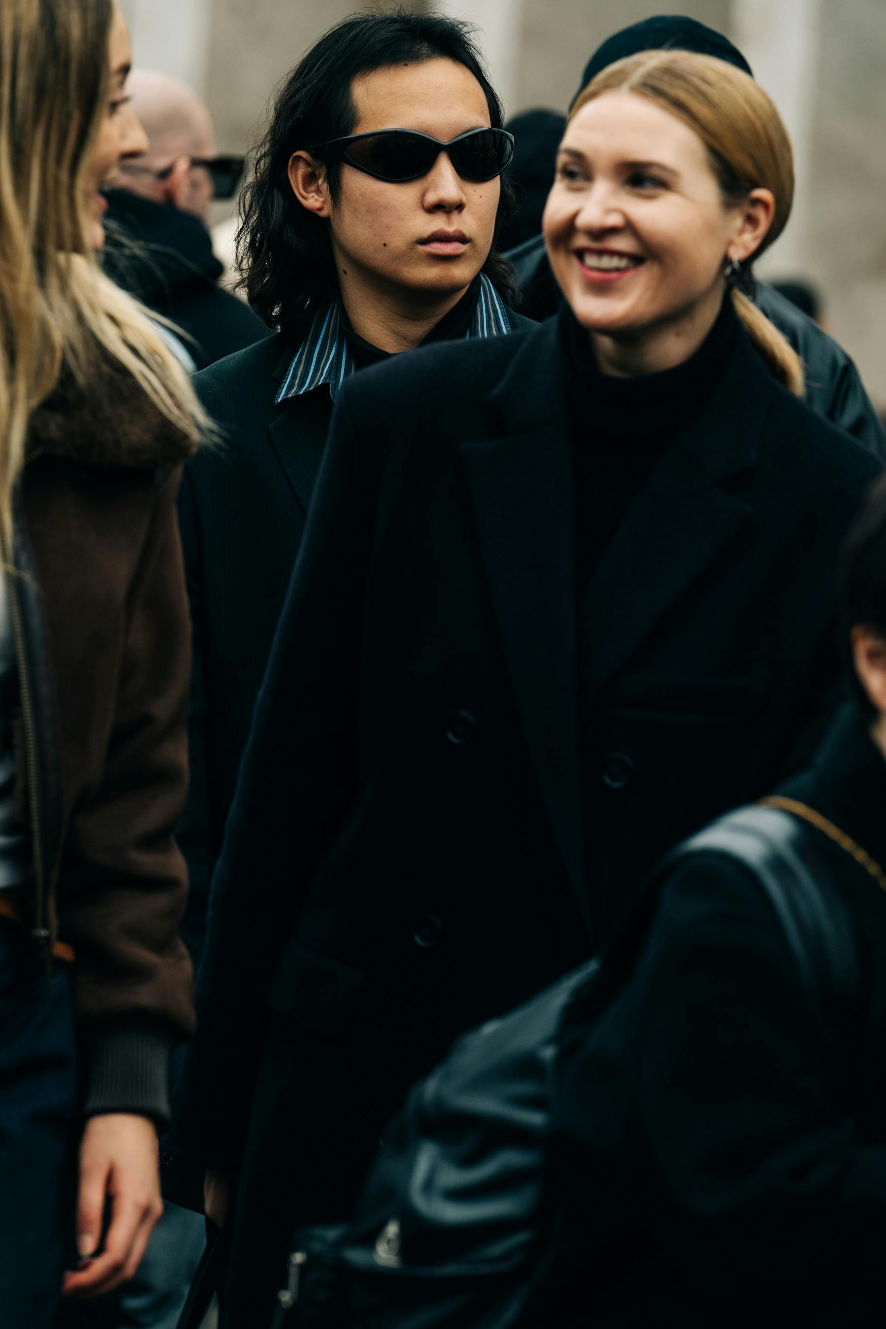
<svg viewBox="0 0 886 1329">
<path fill-rule="evenodd" d="M 224 267 L 207 227 L 214 171 L 230 158 L 217 157 L 210 113 L 185 84 L 134 69 L 128 90 L 149 149 L 121 162 L 121 187 L 106 193 L 105 270 L 187 334 L 194 367 L 203 369 L 268 335 L 219 284 Z"/>
</svg>

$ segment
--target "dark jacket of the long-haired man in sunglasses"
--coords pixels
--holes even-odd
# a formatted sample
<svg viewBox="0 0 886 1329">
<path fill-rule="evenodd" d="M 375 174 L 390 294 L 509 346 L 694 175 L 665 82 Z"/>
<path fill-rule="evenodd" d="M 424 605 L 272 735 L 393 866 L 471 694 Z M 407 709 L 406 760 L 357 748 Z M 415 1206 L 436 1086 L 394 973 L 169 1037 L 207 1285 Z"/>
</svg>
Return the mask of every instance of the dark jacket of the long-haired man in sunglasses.
<svg viewBox="0 0 886 1329">
<path fill-rule="evenodd" d="M 514 330 L 529 319 L 509 312 Z M 197 957 L 236 773 L 332 419 L 327 387 L 275 404 L 294 355 L 268 338 L 194 380 L 221 441 L 185 468 L 179 524 L 194 623 L 190 793 L 178 840 Z"/>
</svg>

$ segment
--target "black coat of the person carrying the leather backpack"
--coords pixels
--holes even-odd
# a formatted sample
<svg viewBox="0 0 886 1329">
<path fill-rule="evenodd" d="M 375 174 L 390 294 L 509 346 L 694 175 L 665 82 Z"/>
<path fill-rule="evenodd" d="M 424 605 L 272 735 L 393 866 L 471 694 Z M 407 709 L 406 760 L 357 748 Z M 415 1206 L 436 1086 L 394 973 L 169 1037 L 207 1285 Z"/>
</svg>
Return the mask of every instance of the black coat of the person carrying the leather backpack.
<svg viewBox="0 0 886 1329">
<path fill-rule="evenodd" d="M 886 868 L 886 762 L 841 716 L 781 791 Z M 521 1329 L 874 1322 L 886 1243 L 886 896 L 810 831 L 857 948 L 813 1005 L 760 886 L 699 853 L 624 991 L 567 1021 L 549 1219 Z"/>
</svg>

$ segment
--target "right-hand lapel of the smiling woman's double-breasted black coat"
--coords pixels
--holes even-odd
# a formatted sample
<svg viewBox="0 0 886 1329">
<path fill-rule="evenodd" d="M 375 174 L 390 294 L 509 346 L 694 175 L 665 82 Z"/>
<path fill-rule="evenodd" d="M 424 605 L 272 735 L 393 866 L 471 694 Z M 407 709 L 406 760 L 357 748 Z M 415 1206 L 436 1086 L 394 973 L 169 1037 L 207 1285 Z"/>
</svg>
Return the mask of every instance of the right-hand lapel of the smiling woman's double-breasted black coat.
<svg viewBox="0 0 886 1329">
<path fill-rule="evenodd" d="M 579 724 L 749 520 L 751 508 L 725 484 L 754 464 L 772 391 L 768 371 L 743 347 L 619 526 L 582 597 Z"/>
</svg>

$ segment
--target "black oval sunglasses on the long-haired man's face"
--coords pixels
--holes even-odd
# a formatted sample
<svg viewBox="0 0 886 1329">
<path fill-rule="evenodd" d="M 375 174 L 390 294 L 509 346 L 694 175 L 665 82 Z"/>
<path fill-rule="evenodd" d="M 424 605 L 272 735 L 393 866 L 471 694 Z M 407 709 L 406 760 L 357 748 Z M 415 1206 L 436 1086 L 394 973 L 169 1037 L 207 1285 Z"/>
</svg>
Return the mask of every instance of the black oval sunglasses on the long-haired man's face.
<svg viewBox="0 0 886 1329">
<path fill-rule="evenodd" d="M 449 154 L 462 179 L 486 181 L 507 166 L 514 136 L 506 129 L 469 129 L 444 142 L 417 129 L 375 129 L 316 146 L 332 149 L 349 166 L 396 185 L 426 175 L 441 153 Z"/>
</svg>

